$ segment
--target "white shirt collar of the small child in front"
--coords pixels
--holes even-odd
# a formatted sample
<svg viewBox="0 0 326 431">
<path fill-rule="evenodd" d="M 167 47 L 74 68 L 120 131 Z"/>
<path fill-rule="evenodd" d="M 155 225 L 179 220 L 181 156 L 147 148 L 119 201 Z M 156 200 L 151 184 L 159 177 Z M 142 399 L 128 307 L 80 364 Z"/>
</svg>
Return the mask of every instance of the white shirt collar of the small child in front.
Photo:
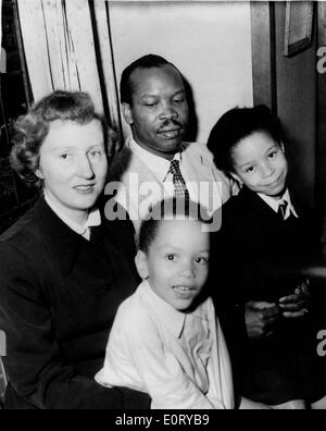
<svg viewBox="0 0 326 431">
<path fill-rule="evenodd" d="M 140 284 L 139 290 L 146 296 L 150 305 L 153 306 L 153 309 L 158 311 L 158 316 L 163 324 L 173 333 L 174 336 L 179 338 L 184 332 L 185 321 L 188 313 L 176 310 L 165 300 L 160 298 L 160 296 L 154 293 L 148 281 L 143 281 Z M 189 315 L 206 320 L 203 308 L 200 306 Z"/>
</svg>

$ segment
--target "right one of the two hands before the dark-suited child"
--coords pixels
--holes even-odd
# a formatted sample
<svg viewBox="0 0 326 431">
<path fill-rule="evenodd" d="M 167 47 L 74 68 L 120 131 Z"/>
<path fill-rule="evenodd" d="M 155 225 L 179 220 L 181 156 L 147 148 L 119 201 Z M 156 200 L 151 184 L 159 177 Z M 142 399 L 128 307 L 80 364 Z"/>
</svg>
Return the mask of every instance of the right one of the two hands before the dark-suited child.
<svg viewBox="0 0 326 431">
<path fill-rule="evenodd" d="M 292 295 L 279 299 L 283 316 L 287 319 L 298 319 L 308 312 L 309 280 L 301 283 Z"/>
</svg>

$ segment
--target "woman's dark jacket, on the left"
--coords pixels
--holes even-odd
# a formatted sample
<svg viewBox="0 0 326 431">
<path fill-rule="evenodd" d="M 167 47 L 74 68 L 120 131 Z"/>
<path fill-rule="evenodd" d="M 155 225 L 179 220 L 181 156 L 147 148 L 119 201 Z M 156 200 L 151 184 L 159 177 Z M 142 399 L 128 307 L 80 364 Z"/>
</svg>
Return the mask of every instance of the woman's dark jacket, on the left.
<svg viewBox="0 0 326 431">
<path fill-rule="evenodd" d="M 104 389 L 102 367 L 120 304 L 138 284 L 125 222 L 91 242 L 40 199 L 0 241 L 0 328 L 7 333 L 7 408 L 148 408 L 149 397 Z"/>
</svg>

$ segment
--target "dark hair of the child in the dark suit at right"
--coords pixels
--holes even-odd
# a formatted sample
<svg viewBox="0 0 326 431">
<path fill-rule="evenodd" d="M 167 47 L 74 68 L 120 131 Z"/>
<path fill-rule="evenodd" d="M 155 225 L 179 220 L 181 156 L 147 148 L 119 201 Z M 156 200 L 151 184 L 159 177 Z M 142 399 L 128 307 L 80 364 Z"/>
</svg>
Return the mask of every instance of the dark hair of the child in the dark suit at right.
<svg viewBox="0 0 326 431">
<path fill-rule="evenodd" d="M 212 128 L 208 141 L 216 167 L 226 174 L 234 172 L 233 149 L 241 139 L 255 132 L 264 132 L 281 145 L 280 122 L 266 106 L 234 108 L 226 112 Z"/>
</svg>

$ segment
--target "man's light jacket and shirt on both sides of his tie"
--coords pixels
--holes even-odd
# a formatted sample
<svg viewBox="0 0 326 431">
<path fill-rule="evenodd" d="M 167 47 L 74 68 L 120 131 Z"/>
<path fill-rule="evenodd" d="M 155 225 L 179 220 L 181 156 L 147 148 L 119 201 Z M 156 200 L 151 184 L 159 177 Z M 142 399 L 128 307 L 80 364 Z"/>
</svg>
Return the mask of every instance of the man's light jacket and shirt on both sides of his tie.
<svg viewBox="0 0 326 431">
<path fill-rule="evenodd" d="M 203 144 L 183 143 L 181 151 L 175 158 L 180 162 L 190 199 L 200 202 L 210 214 L 216 214 L 212 226 L 218 230 L 222 204 L 239 188 L 216 169 L 213 155 Z M 131 136 L 115 157 L 105 194 L 114 195 L 113 204 L 117 201 L 126 209 L 136 233 L 153 205 L 174 196 L 170 168 L 170 161 L 141 148 Z"/>
</svg>

